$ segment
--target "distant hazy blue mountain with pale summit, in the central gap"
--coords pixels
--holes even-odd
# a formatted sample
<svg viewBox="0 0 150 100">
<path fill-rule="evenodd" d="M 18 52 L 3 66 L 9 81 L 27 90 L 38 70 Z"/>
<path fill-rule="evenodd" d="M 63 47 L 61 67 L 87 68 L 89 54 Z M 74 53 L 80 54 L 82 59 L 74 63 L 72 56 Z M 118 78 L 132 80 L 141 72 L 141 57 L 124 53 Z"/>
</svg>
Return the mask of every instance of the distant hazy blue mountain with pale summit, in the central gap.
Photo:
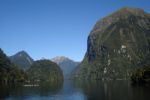
<svg viewBox="0 0 150 100">
<path fill-rule="evenodd" d="M 67 57 L 58 56 L 51 59 L 53 62 L 57 63 L 63 71 L 64 76 L 68 76 L 76 68 L 79 62 L 75 62 Z"/>
</svg>

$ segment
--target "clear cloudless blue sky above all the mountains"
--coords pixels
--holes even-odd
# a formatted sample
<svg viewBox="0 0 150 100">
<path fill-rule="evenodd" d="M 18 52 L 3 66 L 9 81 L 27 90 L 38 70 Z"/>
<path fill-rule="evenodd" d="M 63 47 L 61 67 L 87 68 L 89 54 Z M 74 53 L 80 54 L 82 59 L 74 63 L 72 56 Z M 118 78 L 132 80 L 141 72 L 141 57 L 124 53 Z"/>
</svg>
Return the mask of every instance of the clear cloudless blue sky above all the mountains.
<svg viewBox="0 0 150 100">
<path fill-rule="evenodd" d="M 124 6 L 150 12 L 150 0 L 0 0 L 0 48 L 80 61 L 96 21 Z"/>
</svg>

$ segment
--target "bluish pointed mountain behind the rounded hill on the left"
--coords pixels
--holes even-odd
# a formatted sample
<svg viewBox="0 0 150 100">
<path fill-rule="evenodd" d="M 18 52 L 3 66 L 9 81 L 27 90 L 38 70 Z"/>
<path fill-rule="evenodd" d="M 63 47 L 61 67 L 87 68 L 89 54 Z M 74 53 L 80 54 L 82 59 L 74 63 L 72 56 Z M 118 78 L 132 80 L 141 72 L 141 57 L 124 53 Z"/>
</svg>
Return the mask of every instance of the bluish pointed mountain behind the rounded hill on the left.
<svg viewBox="0 0 150 100">
<path fill-rule="evenodd" d="M 34 62 L 34 60 L 25 52 L 20 51 L 13 56 L 10 56 L 12 63 L 20 66 L 24 70 L 27 70 Z"/>
</svg>

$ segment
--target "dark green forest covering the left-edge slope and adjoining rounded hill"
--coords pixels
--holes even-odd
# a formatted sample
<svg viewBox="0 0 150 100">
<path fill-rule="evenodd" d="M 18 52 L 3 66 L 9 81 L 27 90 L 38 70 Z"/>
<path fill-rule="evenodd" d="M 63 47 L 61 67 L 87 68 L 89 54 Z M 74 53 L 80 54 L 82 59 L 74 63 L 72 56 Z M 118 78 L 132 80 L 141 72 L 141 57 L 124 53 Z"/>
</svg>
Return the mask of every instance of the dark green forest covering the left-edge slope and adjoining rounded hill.
<svg viewBox="0 0 150 100">
<path fill-rule="evenodd" d="M 24 56 L 26 53 L 19 53 L 19 55 L 20 54 L 21 58 L 26 58 Z M 17 59 L 18 61 L 23 61 L 22 59 Z M 23 63 L 21 63 L 21 65 L 22 64 Z M 0 83 L 57 82 L 56 84 L 58 84 L 58 82 L 63 82 L 62 70 L 57 64 L 50 60 L 35 61 L 27 71 L 24 71 L 23 69 L 24 68 L 22 66 L 13 64 L 0 49 Z"/>
</svg>

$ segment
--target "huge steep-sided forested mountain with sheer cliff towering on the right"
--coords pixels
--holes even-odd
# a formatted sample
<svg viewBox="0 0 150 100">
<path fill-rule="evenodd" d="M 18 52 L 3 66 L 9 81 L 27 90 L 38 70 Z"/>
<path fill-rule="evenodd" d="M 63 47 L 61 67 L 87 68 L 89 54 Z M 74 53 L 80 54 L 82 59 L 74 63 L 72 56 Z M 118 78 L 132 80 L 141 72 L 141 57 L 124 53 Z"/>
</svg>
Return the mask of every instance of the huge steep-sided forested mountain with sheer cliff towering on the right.
<svg viewBox="0 0 150 100">
<path fill-rule="evenodd" d="M 133 69 L 145 64 L 150 64 L 150 14 L 124 7 L 96 23 L 73 77 L 128 79 Z"/>
</svg>

